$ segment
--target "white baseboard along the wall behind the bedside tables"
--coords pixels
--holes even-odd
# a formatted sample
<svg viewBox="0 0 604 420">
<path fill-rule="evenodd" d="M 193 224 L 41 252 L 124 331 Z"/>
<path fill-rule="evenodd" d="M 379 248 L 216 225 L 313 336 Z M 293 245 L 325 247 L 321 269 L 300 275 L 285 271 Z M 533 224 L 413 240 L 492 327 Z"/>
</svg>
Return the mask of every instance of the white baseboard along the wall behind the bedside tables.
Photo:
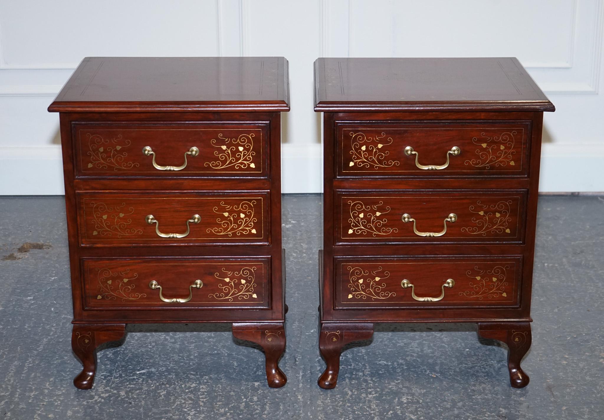
<svg viewBox="0 0 604 420">
<path fill-rule="evenodd" d="M 283 193 L 321 193 L 320 144 L 283 144 Z M 544 144 L 539 191 L 604 192 L 604 145 Z M 0 147 L 0 196 L 64 194 L 61 148 Z"/>
</svg>

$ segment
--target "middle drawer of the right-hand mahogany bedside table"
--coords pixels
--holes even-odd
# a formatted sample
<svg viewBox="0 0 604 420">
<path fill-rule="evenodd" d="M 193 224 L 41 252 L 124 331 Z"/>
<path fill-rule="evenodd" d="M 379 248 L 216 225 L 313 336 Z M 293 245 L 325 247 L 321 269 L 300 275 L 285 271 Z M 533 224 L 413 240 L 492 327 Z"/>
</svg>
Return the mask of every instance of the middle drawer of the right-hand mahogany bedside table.
<svg viewBox="0 0 604 420">
<path fill-rule="evenodd" d="M 336 244 L 522 243 L 526 194 L 336 191 L 334 239 Z"/>
</svg>

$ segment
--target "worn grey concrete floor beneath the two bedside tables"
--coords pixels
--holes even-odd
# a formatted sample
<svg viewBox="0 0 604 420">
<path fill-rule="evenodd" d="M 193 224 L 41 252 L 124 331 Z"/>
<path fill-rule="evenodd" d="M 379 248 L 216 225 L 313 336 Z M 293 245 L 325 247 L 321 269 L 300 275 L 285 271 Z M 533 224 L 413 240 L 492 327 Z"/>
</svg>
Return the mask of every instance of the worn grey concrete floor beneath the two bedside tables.
<svg viewBox="0 0 604 420">
<path fill-rule="evenodd" d="M 147 325 L 99 353 L 82 391 L 63 197 L 0 199 L 0 419 L 604 418 L 602 197 L 541 197 L 531 382 L 519 390 L 506 349 L 481 344 L 472 324 L 382 325 L 342 354 L 336 389 L 320 389 L 320 197 L 285 196 L 283 208 L 286 386 L 266 386 L 263 354 L 230 326 Z"/>
</svg>

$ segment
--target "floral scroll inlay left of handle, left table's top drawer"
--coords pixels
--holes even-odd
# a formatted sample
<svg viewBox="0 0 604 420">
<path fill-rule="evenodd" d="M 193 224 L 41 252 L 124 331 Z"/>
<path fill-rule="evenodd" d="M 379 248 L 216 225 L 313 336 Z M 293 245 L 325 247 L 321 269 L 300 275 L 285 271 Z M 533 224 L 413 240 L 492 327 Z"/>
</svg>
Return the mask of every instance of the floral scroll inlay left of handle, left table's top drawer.
<svg viewBox="0 0 604 420">
<path fill-rule="evenodd" d="M 124 147 L 128 147 L 131 142 L 130 140 L 124 139 L 120 134 L 111 140 L 105 139 L 98 134 L 86 134 L 88 137 L 88 156 L 90 156 L 90 163 L 88 168 L 95 167 L 97 169 L 108 169 L 113 168 L 114 171 L 119 169 L 132 169 L 137 168 L 138 163 L 127 162 L 126 158 L 128 153 L 120 151 Z"/>
</svg>

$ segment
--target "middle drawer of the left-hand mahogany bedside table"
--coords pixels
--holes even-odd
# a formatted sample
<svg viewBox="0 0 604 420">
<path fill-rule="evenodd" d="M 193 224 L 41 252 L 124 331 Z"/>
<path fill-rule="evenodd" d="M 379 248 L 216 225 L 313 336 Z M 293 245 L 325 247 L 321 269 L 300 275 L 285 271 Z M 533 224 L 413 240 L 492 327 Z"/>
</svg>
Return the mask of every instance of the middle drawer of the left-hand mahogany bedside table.
<svg viewBox="0 0 604 420">
<path fill-rule="evenodd" d="M 269 192 L 80 193 L 83 246 L 269 244 Z"/>
</svg>

